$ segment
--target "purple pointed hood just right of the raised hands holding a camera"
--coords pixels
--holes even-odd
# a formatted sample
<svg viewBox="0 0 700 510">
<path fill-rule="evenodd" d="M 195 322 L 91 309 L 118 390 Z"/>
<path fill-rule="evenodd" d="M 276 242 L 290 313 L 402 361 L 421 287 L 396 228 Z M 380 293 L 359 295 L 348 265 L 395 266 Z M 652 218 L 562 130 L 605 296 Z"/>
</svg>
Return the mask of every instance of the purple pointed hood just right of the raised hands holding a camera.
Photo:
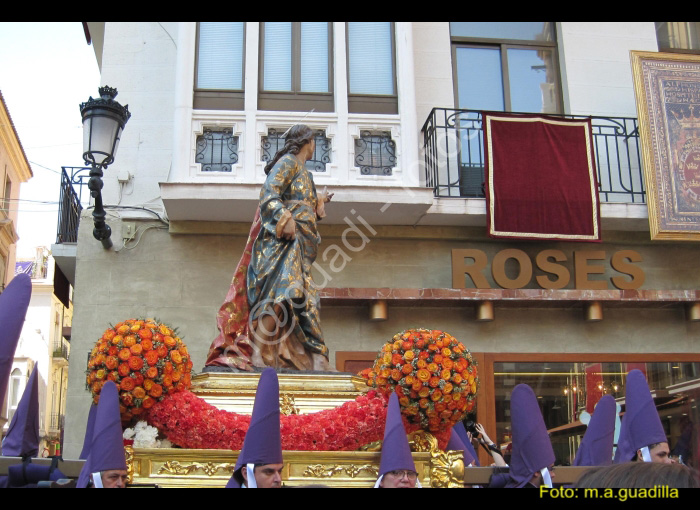
<svg viewBox="0 0 700 510">
<path fill-rule="evenodd" d="M 510 396 L 513 453 L 508 487 L 524 487 L 542 468 L 554 464 L 554 450 L 535 392 L 518 384 Z"/>
</svg>

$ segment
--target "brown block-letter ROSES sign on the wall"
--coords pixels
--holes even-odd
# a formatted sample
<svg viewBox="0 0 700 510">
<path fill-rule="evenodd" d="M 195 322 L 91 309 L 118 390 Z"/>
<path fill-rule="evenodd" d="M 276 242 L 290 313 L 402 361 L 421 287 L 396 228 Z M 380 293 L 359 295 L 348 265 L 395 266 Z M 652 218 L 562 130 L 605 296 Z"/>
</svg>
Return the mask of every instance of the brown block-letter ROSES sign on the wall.
<svg viewBox="0 0 700 510">
<path fill-rule="evenodd" d="M 642 256 L 634 250 L 620 250 L 609 258 L 604 250 L 576 250 L 572 257 L 561 250 L 542 250 L 534 261 L 522 250 L 501 250 L 489 261 L 485 252 L 476 249 L 452 250 L 452 287 L 467 288 L 471 280 L 477 289 L 490 289 L 486 275 L 491 272 L 493 281 L 502 289 L 522 289 L 532 281 L 534 267 L 545 274 L 535 276 L 535 282 L 543 289 L 563 289 L 571 281 L 570 258 L 573 258 L 573 277 L 575 289 L 609 289 L 609 283 L 618 289 L 639 289 L 644 284 L 644 270 L 636 263 Z M 508 275 L 506 263 L 513 259 L 518 270 Z M 490 267 L 489 267 L 490 266 Z M 604 275 L 612 268 L 616 273 L 609 278 L 595 277 Z"/>
</svg>

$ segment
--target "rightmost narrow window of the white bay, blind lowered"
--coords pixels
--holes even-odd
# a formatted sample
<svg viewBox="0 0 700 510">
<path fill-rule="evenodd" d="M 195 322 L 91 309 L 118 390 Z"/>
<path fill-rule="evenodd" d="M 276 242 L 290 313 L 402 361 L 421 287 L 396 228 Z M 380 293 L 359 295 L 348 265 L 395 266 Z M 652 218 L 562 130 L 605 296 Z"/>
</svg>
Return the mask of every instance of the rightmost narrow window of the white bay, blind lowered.
<svg viewBox="0 0 700 510">
<path fill-rule="evenodd" d="M 347 24 L 348 111 L 398 113 L 394 24 Z"/>
</svg>

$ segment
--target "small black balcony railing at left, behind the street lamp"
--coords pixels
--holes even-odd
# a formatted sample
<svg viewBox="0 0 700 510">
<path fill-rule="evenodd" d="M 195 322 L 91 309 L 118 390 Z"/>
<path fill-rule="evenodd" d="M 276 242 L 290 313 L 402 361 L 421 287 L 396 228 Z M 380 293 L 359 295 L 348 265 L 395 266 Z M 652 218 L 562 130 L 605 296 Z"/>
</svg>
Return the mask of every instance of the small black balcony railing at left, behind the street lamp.
<svg viewBox="0 0 700 510">
<path fill-rule="evenodd" d="M 83 186 L 90 178 L 89 168 L 64 166 L 61 169 L 61 193 L 58 198 L 56 244 L 77 243 L 80 212 L 83 210 Z M 70 176 L 69 176 L 70 173 Z M 87 195 L 89 197 L 89 195 Z"/>
</svg>

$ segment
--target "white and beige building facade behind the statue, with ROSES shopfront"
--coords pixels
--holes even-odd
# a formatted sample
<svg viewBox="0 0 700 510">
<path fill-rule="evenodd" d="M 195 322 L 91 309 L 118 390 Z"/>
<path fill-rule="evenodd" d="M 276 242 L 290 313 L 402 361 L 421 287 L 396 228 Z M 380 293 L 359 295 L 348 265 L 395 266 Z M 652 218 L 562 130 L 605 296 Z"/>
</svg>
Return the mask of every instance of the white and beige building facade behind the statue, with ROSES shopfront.
<svg viewBox="0 0 700 510">
<path fill-rule="evenodd" d="M 80 224 L 68 456 L 89 405 L 82 353 L 110 323 L 157 317 L 203 367 L 264 164 L 295 123 L 316 131 L 310 169 L 335 193 L 315 280 L 339 370 L 368 366 L 404 329 L 448 331 L 480 362 L 476 418 L 492 437 L 508 443 L 508 395 L 528 382 L 561 463 L 593 396 L 624 397 L 630 367 L 646 370 L 672 446 L 697 423 L 698 248 L 649 240 L 636 129 L 629 52 L 658 51 L 655 23 L 87 25 L 102 84 L 132 118 L 105 173 L 114 248 L 89 214 Z M 614 149 L 596 142 L 602 243 L 487 235 L 482 110 L 619 126 Z M 553 290 L 539 278 L 548 251 L 568 275 Z M 474 256 L 483 265 L 465 271 Z M 635 299 L 620 290 L 630 281 Z M 386 317 L 371 320 L 378 302 Z"/>
</svg>

